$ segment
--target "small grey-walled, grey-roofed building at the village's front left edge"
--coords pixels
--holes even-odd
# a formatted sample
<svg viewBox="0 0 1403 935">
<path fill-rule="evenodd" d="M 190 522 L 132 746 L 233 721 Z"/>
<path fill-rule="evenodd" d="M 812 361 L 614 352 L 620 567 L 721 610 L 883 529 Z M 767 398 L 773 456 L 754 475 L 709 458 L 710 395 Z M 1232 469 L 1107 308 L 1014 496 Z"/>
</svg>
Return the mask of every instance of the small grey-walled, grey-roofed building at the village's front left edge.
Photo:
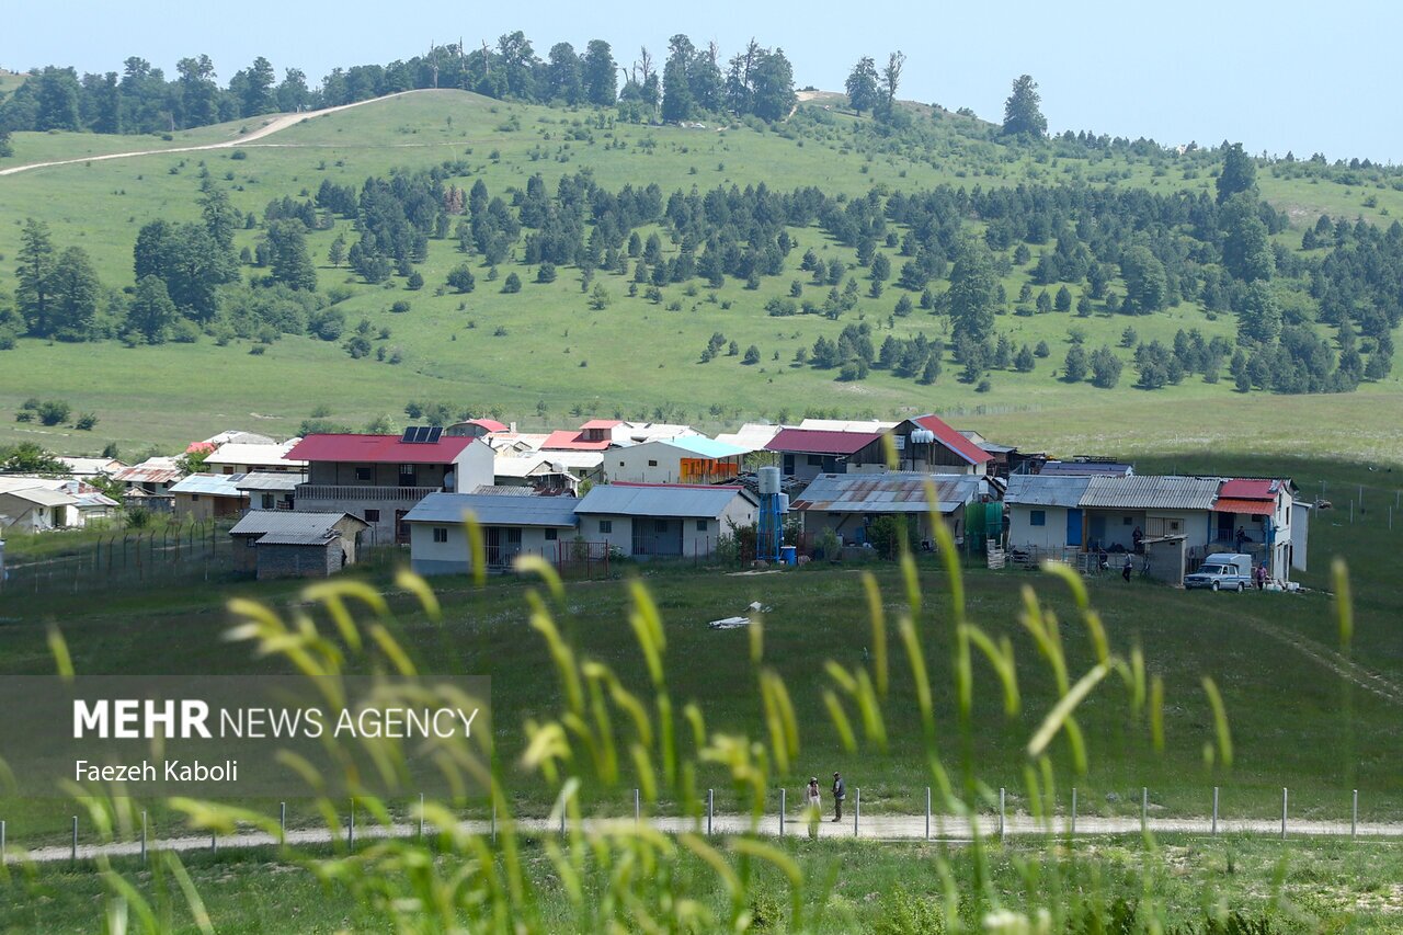
<svg viewBox="0 0 1403 935">
<path fill-rule="evenodd" d="M 267 578 L 324 578 L 361 556 L 369 524 L 345 512 L 250 511 L 234 524 L 234 569 Z"/>
</svg>

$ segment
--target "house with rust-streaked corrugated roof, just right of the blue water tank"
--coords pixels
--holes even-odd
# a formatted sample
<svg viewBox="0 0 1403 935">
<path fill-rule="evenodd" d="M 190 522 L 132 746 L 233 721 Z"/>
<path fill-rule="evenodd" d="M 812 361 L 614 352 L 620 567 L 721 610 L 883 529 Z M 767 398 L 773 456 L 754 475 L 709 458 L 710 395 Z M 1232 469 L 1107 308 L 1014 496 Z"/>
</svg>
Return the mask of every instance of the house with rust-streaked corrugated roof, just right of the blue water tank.
<svg viewBox="0 0 1403 935">
<path fill-rule="evenodd" d="M 819 475 L 790 504 L 804 518 L 804 535 L 812 545 L 832 529 L 840 542 L 864 545 L 871 541 L 871 525 L 881 517 L 905 517 L 916 542 L 934 546 L 930 528 L 927 484 L 936 489 L 936 512 L 944 519 L 957 543 L 964 542 L 967 507 L 996 500 L 991 482 L 974 475 L 927 475 L 895 470 L 885 473 Z M 984 522 L 981 517 L 981 532 Z"/>
</svg>

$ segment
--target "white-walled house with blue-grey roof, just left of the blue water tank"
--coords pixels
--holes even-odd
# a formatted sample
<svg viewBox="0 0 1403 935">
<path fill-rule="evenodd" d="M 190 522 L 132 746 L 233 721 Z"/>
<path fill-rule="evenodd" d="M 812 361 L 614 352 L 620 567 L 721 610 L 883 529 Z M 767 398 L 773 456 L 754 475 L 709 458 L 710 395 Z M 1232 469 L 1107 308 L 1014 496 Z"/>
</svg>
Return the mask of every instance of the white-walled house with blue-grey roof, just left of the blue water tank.
<svg viewBox="0 0 1403 935">
<path fill-rule="evenodd" d="M 575 507 L 579 535 L 634 557 L 702 557 L 732 526 L 756 519 L 742 487 L 616 483 L 593 487 Z"/>
</svg>

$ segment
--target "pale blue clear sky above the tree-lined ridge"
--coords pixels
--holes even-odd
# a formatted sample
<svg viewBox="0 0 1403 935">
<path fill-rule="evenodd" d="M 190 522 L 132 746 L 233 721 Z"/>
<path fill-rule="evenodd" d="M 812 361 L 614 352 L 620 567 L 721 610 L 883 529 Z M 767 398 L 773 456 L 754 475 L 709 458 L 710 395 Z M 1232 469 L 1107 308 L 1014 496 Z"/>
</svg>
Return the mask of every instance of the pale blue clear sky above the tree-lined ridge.
<svg viewBox="0 0 1403 935">
<path fill-rule="evenodd" d="M 783 46 L 798 86 L 840 90 L 860 55 L 906 53 L 901 97 L 1000 119 L 1012 80 L 1030 73 L 1054 131 L 1094 129 L 1162 143 L 1240 140 L 1263 150 L 1403 163 L 1390 67 L 1403 4 L 1280 0 L 766 4 L 713 0 L 575 3 L 302 3 L 49 0 L 7 4 L 0 67 L 119 70 L 140 55 L 173 72 L 208 53 L 227 80 L 257 55 L 316 83 L 335 65 L 390 62 L 429 42 L 469 45 L 523 29 L 554 42 L 609 41 L 629 62 L 685 32 L 730 55 L 752 35 Z M 217 10 L 217 13 L 216 13 Z"/>
</svg>

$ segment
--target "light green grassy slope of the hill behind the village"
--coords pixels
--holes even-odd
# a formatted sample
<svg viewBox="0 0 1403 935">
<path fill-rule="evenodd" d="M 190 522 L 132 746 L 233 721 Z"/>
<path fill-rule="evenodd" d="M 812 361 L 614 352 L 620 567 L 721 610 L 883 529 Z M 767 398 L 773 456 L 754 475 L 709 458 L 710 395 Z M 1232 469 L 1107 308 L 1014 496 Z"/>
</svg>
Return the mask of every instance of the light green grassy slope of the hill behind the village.
<svg viewBox="0 0 1403 935">
<path fill-rule="evenodd" d="M 306 197 L 324 178 L 359 187 L 368 175 L 449 159 L 466 160 L 469 167 L 456 184 L 466 188 L 481 180 L 492 195 L 525 188 L 536 173 L 553 191 L 561 175 L 585 168 L 606 188 L 658 183 L 665 197 L 693 185 L 704 191 L 759 183 L 772 190 L 817 185 L 847 195 L 866 194 L 873 185 L 916 191 L 946 183 L 988 188 L 1085 181 L 1150 191 L 1211 191 L 1214 184 L 1191 157 L 1179 164 L 1167 156 L 1099 161 L 1030 156 L 989 142 L 986 125 L 972 118 L 932 108 L 916 108 L 915 114 L 929 125 L 933 143 L 901 146 L 866 129 L 860 132 L 866 121 L 829 107 L 826 98 L 808 102 L 779 129 L 685 129 L 610 126 L 609 115 L 593 111 L 515 105 L 460 91 L 419 91 L 311 118 L 237 150 L 152 154 L 0 178 L 6 218 L 14 220 L 0 225 L 0 254 L 13 258 L 20 220 L 41 218 L 52 226 L 56 244 L 80 244 L 90 251 L 104 284 L 130 285 L 130 247 L 137 229 L 156 218 L 194 220 L 202 168 L 229 191 L 237 208 L 260 215 L 269 199 Z M 189 140 L 178 133 L 159 142 L 174 146 L 229 139 L 240 128 L 205 128 L 192 131 Z M 104 146 L 112 140 L 91 135 L 35 136 L 17 135 L 17 150 L 59 157 L 83 154 L 81 146 L 94 140 Z M 112 142 L 118 146 L 123 140 L 137 142 Z M 146 138 L 140 146 L 147 146 Z M 1322 212 L 1358 215 L 1375 223 L 1403 216 L 1403 191 L 1382 177 L 1365 188 L 1277 178 L 1263 170 L 1258 181 L 1263 195 L 1296 219 L 1296 229 L 1280 236 L 1291 248 L 1299 248 L 1301 227 Z M 1367 198 L 1372 199 L 1369 208 Z M 335 230 L 309 237 L 313 256 L 323 264 L 337 233 L 351 240 L 355 236 L 342 220 Z M 257 424 L 274 432 L 290 431 L 318 406 L 330 407 L 347 424 L 363 424 L 398 413 L 414 397 L 495 407 L 526 424 L 568 424 L 578 416 L 613 413 L 720 425 L 741 417 L 798 418 L 810 410 L 880 416 L 940 410 L 954 413 L 962 425 L 1063 453 L 1108 446 L 1191 452 L 1214 444 L 1292 451 L 1305 435 L 1316 451 L 1403 462 L 1403 428 L 1374 417 L 1381 404 L 1399 400 L 1403 383 L 1397 376 L 1337 397 L 1240 397 L 1230 380 L 1211 386 L 1198 378 L 1145 393 L 1129 386 L 1129 368 L 1121 386 L 1108 392 L 1055 379 L 1069 330 L 1080 329 L 1089 347 L 1114 347 L 1128 321 L 1118 314 L 1000 317 L 998 329 L 1014 341 L 1014 348 L 1047 341 L 1051 355 L 1040 359 L 1031 373 L 995 373 L 988 393 L 958 383 L 948 357 L 944 375 L 929 387 L 881 371 L 861 382 L 839 383 L 832 379 L 833 371 L 793 366 L 800 347 L 811 347 L 819 336 L 833 340 L 845 324 L 871 324 L 880 344 L 901 292 L 888 288 L 882 298 L 871 299 L 864 291 L 857 307 L 838 321 L 821 316 L 767 317 L 766 300 L 788 295 L 791 279 L 801 282 L 805 296 L 821 299 L 826 292 L 826 286 L 812 286 L 797 270 L 805 248 L 825 260 L 854 263 L 852 250 L 832 243 L 817 227 L 790 233 L 800 246 L 784 274 L 762 279 L 756 291 L 732 279 L 717 291 L 700 282 L 673 285 L 664 289 L 661 303 L 652 303 L 643 298 L 641 288 L 638 298 L 629 298 L 629 279 L 600 272 L 596 282 L 605 284 L 612 303 L 599 312 L 588 307 L 577 270 L 561 268 L 556 282 L 540 285 L 533 281 L 535 267 L 515 261 L 504 264 L 501 275 L 516 271 L 522 277 L 525 288 L 518 295 L 502 295 L 499 282 L 488 282 L 485 270 L 477 267 L 480 260 L 473 258 L 477 289 L 467 296 L 435 296 L 448 271 L 464 257 L 452 240 L 432 240 L 427 263 L 418 267 L 427 284 L 419 292 L 405 291 L 398 278 L 390 281 L 390 288 L 372 288 L 344 268 L 323 265 L 318 271 L 323 291 L 344 286 L 351 293 L 337 306 L 348 323 L 366 319 L 376 331 L 390 329 L 390 337 L 377 344 L 398 351 L 403 362 L 397 366 L 373 358 L 352 361 L 338 344 L 303 337 L 283 337 L 262 357 L 250 355 L 244 343 L 213 347 L 209 338 L 195 345 L 139 350 L 112 343 L 49 347 L 21 340 L 17 351 L 4 354 L 6 366 L 0 368 L 0 413 L 35 394 L 65 397 L 79 410 L 97 411 L 102 423 L 93 439 L 46 437 L 60 451 L 100 448 L 108 438 L 123 445 L 175 445 L 224 424 L 248 424 L 251 411 L 272 416 Z M 236 247 L 251 248 L 257 237 L 255 230 L 240 232 Z M 1010 299 L 1027 281 L 1028 270 L 1016 267 L 1003 278 Z M 860 277 L 861 271 L 854 274 Z M 8 260 L 0 265 L 0 288 L 13 289 Z M 1113 288 L 1124 292 L 1122 284 Z M 1078 295 L 1073 289 L 1073 299 Z M 391 313 L 396 300 L 408 300 L 411 310 Z M 1167 341 L 1179 329 L 1198 329 L 1205 337 L 1233 334 L 1230 316 L 1214 320 L 1190 303 L 1136 317 L 1134 326 L 1145 341 Z M 923 331 L 943 340 L 944 327 L 947 319 L 918 310 L 895 319 L 891 333 L 909 337 Z M 699 364 L 716 331 L 742 351 L 753 344 L 760 362 L 746 366 L 739 357 L 723 355 Z M 1128 357 L 1128 351 L 1118 352 Z M 215 373 L 217 379 L 210 379 Z M 544 416 L 539 416 L 542 410 Z M 0 444 L 29 438 L 31 428 L 0 417 Z"/>
</svg>

